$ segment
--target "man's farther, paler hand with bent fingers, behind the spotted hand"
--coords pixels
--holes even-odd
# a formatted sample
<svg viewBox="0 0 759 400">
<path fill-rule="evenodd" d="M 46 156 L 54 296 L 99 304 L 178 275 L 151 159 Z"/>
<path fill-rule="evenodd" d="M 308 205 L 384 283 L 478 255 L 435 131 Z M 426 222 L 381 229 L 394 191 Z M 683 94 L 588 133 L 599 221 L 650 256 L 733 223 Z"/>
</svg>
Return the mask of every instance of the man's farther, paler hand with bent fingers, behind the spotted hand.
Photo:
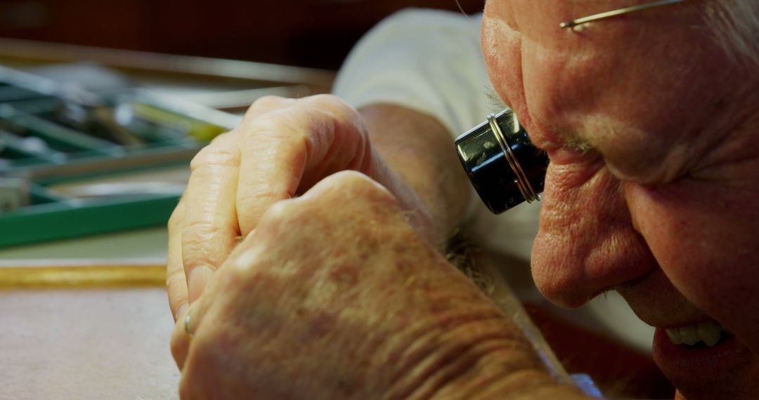
<svg viewBox="0 0 759 400">
<path fill-rule="evenodd" d="M 167 286 L 175 317 L 200 296 L 238 238 L 255 230 L 272 204 L 341 170 L 357 170 L 382 183 L 409 211 L 414 226 L 433 235 L 424 203 L 373 150 L 357 111 L 334 96 L 261 98 L 241 127 L 216 138 L 191 167 L 187 190 L 168 224 Z"/>
</svg>

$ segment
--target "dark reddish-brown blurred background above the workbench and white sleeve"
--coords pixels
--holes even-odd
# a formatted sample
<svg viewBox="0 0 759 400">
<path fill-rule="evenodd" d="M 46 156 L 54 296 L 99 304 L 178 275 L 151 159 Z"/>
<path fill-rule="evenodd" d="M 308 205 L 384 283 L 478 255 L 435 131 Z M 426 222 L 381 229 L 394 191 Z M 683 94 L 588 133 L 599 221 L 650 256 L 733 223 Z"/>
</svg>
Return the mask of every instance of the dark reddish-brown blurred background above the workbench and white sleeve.
<svg viewBox="0 0 759 400">
<path fill-rule="evenodd" d="M 458 2 L 467 13 L 484 5 Z M 0 0 L 0 37 L 335 69 L 361 34 L 408 7 L 459 10 L 456 0 Z"/>
</svg>

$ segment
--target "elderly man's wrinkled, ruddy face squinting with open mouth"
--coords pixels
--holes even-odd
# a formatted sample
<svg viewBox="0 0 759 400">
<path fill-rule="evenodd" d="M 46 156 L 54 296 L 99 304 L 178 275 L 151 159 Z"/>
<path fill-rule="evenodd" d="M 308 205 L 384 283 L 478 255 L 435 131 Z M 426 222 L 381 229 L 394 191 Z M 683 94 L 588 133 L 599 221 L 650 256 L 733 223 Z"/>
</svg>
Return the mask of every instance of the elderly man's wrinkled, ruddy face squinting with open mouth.
<svg viewBox="0 0 759 400">
<path fill-rule="evenodd" d="M 698 335 L 654 339 L 688 398 L 757 398 L 759 78 L 715 44 L 707 2 L 559 29 L 642 2 L 487 2 L 490 78 L 551 158 L 534 278 L 570 306 L 616 289 L 675 342 Z"/>
</svg>

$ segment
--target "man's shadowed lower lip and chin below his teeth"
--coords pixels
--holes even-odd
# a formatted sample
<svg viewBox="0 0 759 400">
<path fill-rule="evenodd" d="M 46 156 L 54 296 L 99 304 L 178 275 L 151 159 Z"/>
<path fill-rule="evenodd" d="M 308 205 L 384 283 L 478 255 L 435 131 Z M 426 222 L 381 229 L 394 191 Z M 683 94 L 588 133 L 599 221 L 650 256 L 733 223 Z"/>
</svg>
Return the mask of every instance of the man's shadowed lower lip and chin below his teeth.
<svg viewBox="0 0 759 400">
<path fill-rule="evenodd" d="M 657 329 L 653 361 L 677 387 L 676 398 L 759 398 L 759 357 L 735 337 L 710 348 L 688 348 Z"/>
</svg>

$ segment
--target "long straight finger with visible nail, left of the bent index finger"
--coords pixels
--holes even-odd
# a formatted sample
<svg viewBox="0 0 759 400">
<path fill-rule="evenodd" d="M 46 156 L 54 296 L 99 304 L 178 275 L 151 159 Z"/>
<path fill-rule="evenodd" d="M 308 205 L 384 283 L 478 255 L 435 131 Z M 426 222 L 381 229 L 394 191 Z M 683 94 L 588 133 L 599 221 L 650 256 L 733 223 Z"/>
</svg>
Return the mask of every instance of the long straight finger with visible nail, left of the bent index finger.
<svg viewBox="0 0 759 400">
<path fill-rule="evenodd" d="M 219 136 L 191 163 L 181 241 L 190 303 L 237 243 L 235 197 L 241 155 L 236 136 L 235 132 Z"/>
</svg>

